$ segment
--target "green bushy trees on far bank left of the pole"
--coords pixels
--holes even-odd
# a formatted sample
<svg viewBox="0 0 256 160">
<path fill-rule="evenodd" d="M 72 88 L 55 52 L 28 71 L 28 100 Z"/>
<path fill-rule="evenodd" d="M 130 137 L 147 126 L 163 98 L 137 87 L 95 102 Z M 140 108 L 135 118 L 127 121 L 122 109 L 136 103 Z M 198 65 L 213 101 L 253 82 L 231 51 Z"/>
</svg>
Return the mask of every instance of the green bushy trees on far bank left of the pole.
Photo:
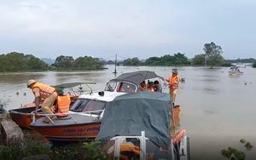
<svg viewBox="0 0 256 160">
<path fill-rule="evenodd" d="M 0 71 L 58 71 L 58 70 L 101 70 L 105 62 L 90 56 L 73 59 L 61 55 L 49 66 L 32 54 L 11 52 L 0 55 Z"/>
</svg>

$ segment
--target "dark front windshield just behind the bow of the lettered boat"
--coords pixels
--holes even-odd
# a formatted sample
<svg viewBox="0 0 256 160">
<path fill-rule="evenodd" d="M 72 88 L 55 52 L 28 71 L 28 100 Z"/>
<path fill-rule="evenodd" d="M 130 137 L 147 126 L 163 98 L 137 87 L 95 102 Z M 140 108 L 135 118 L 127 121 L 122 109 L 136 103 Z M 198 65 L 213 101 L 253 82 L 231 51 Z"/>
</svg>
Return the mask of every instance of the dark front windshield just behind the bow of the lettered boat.
<svg viewBox="0 0 256 160">
<path fill-rule="evenodd" d="M 100 115 L 101 112 L 98 112 L 98 111 L 103 110 L 105 106 L 106 106 L 106 101 L 78 99 L 73 104 L 73 106 L 71 106 L 70 111 L 75 111 L 75 112 L 97 111 L 97 112 L 93 112 L 93 114 Z"/>
</svg>

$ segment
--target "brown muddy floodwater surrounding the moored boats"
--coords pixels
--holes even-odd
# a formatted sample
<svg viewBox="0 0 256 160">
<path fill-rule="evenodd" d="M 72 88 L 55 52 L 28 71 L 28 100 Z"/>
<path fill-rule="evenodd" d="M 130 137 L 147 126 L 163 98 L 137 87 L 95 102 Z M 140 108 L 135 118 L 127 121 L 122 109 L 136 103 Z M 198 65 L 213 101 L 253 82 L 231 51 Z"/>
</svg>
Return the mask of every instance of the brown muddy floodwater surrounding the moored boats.
<svg viewBox="0 0 256 160">
<path fill-rule="evenodd" d="M 0 100 L 5 102 L 8 110 L 32 102 L 32 91 L 26 88 L 26 82 L 32 78 L 51 85 L 96 82 L 96 85 L 91 85 L 92 89 L 104 89 L 105 83 L 114 77 L 113 66 L 108 68 L 105 71 L 2 73 Z M 129 71 L 148 70 L 167 78 L 172 68 L 118 66 L 117 76 Z M 219 152 L 228 146 L 242 148 L 239 147 L 242 146 L 239 144 L 241 138 L 256 145 L 256 69 L 251 66 L 241 68 L 244 75 L 240 76 L 229 76 L 229 68 L 226 67 L 212 70 L 207 67 L 179 67 L 178 71 L 179 76 L 186 80 L 180 84 L 177 94 L 177 104 L 182 109 L 178 129 L 186 129 L 190 137 L 192 159 L 211 159 L 213 156 L 224 159 Z M 248 156 L 253 156 L 253 152 L 250 151 Z"/>
</svg>

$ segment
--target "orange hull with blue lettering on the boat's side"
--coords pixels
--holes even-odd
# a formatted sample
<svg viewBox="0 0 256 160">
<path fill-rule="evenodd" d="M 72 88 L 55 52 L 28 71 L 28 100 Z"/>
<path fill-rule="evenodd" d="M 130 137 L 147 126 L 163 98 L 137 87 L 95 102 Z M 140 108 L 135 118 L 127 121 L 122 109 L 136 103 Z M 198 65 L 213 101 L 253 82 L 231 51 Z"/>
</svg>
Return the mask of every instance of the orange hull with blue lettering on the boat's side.
<svg viewBox="0 0 256 160">
<path fill-rule="evenodd" d="M 35 128 L 39 134 L 54 144 L 67 144 L 79 141 L 95 140 L 101 128 L 101 122 L 88 124 L 64 125 L 63 127 L 41 126 Z"/>
</svg>

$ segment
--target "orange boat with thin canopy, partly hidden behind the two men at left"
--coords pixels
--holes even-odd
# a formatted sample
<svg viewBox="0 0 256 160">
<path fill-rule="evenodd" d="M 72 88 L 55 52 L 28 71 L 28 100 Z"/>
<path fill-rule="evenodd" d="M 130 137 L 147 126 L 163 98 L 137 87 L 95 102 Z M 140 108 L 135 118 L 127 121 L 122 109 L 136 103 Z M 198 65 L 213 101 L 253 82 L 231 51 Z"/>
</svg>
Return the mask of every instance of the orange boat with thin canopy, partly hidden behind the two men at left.
<svg viewBox="0 0 256 160">
<path fill-rule="evenodd" d="M 73 105 L 74 101 L 79 98 L 79 95 L 82 93 L 82 84 L 96 84 L 96 83 L 62 83 L 59 85 L 53 86 L 55 89 L 69 89 L 66 93 L 70 94 L 71 96 L 71 106 Z M 79 87 L 79 94 L 78 92 L 73 91 L 73 88 L 76 86 Z M 87 85 L 88 86 L 88 85 Z M 90 88 L 90 86 L 88 86 Z M 91 89 L 90 89 L 91 90 Z M 91 92 L 91 91 L 90 91 Z M 42 101 L 43 103 L 43 101 Z M 42 104 L 41 104 L 42 105 Z M 35 103 L 28 103 L 26 105 L 21 105 L 20 108 L 9 110 L 9 115 L 12 118 L 12 120 L 17 123 L 20 128 L 25 128 L 25 129 L 32 129 L 29 127 L 30 123 L 32 123 L 32 111 L 35 111 Z M 42 113 L 41 106 L 39 106 L 38 113 Z M 43 116 L 36 116 L 35 118 L 38 119 Z"/>
</svg>

